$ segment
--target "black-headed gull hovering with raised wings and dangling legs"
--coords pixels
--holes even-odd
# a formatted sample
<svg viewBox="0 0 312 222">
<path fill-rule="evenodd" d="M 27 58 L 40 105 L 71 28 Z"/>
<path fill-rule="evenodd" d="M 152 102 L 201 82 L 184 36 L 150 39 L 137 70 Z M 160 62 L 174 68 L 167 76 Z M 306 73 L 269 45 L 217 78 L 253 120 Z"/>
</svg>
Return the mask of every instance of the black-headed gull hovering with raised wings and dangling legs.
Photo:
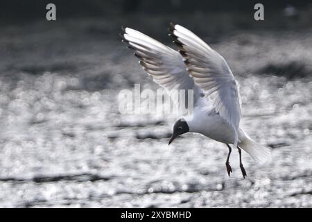
<svg viewBox="0 0 312 222">
<path fill-rule="evenodd" d="M 233 147 L 239 150 L 243 177 L 247 176 L 241 160 L 241 148 L 254 160 L 268 159 L 270 149 L 254 142 L 241 128 L 239 84 L 225 59 L 197 35 L 180 25 L 171 24 L 169 31 L 178 51 L 135 31 L 123 28 L 123 42 L 135 50 L 139 64 L 155 83 L 167 89 L 193 89 L 193 118 L 175 122 L 169 144 L 184 133 L 200 133 L 229 148 L 225 162 L 232 173 L 229 155 Z"/>
</svg>

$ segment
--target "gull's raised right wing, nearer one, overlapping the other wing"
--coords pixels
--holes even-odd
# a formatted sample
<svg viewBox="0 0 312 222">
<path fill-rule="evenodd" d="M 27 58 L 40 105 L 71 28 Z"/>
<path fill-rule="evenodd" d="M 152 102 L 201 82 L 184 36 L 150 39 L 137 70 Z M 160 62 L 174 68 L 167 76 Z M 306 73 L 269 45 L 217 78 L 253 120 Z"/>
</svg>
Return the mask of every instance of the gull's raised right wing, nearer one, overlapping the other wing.
<svg viewBox="0 0 312 222">
<path fill-rule="evenodd" d="M 227 62 L 187 28 L 171 24 L 170 30 L 195 83 L 204 92 L 214 96 L 213 105 L 216 112 L 232 126 L 236 147 L 241 119 L 241 99 L 239 85 Z"/>
</svg>

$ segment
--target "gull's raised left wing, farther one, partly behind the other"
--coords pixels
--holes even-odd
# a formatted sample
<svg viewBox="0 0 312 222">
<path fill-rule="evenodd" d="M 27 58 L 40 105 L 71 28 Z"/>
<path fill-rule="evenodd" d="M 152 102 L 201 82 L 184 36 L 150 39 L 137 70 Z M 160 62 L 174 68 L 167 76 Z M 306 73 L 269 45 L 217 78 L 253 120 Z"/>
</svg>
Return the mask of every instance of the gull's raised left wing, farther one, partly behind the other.
<svg viewBox="0 0 312 222">
<path fill-rule="evenodd" d="M 132 28 L 124 28 L 123 31 L 123 42 L 128 43 L 128 48 L 135 50 L 134 55 L 139 58 L 139 64 L 153 77 L 155 83 L 164 87 L 171 96 L 171 92 L 184 89 L 186 100 L 188 89 L 193 89 L 195 105 L 203 94 L 189 76 L 180 53 Z"/>
</svg>

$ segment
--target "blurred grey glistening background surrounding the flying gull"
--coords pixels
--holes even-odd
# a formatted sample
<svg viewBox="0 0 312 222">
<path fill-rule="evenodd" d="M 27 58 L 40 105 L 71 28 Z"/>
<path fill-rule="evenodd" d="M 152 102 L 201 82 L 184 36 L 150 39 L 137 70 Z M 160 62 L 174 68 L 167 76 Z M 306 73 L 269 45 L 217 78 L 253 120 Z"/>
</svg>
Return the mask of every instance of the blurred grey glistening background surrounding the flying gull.
<svg viewBox="0 0 312 222">
<path fill-rule="evenodd" d="M 121 26 L 175 49 L 169 22 L 227 60 L 241 128 L 272 148 L 263 165 L 243 153 L 245 180 L 224 144 L 168 148 L 176 115 L 119 112 L 121 89 L 158 88 Z M 0 28 L 0 207 L 312 207 L 311 1 L 10 0 Z"/>
</svg>

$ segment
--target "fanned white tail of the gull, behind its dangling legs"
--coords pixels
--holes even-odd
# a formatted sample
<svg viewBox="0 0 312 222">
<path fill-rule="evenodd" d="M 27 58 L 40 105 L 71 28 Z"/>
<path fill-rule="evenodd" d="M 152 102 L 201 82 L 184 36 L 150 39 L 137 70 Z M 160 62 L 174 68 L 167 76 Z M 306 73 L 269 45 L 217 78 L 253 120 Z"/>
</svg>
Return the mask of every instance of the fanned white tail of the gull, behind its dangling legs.
<svg viewBox="0 0 312 222">
<path fill-rule="evenodd" d="M 257 162 L 266 162 L 270 158 L 270 148 L 257 144 L 248 135 L 245 135 L 243 141 L 239 143 L 239 147 Z"/>
</svg>

